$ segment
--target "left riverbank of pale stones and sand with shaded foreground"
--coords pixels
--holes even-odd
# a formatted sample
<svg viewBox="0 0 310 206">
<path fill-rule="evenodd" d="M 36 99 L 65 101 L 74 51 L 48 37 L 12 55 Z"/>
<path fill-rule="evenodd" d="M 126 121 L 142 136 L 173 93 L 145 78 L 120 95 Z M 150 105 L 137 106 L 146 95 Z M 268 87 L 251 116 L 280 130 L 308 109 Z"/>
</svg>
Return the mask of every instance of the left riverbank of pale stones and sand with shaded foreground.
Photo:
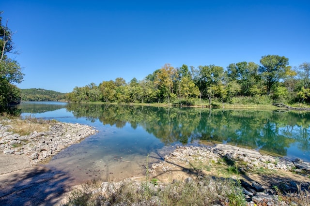
<svg viewBox="0 0 310 206">
<path fill-rule="evenodd" d="M 40 163 L 94 133 L 87 125 L 2 117 L 0 205 L 60 205 L 74 177 Z"/>
</svg>

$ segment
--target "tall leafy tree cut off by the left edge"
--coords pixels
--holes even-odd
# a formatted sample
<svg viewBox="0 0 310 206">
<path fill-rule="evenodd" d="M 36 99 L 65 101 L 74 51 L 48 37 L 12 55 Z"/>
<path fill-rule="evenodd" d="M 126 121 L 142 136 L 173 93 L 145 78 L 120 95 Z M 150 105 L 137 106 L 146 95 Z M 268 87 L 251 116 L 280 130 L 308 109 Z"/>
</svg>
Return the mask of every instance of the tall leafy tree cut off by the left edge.
<svg viewBox="0 0 310 206">
<path fill-rule="evenodd" d="M 8 21 L 3 26 L 0 16 L 0 110 L 7 109 L 11 102 L 20 101 L 20 89 L 12 83 L 21 83 L 24 76 L 19 63 L 7 56 L 7 53 L 14 53 L 13 32 L 7 27 L 7 23 Z"/>
</svg>

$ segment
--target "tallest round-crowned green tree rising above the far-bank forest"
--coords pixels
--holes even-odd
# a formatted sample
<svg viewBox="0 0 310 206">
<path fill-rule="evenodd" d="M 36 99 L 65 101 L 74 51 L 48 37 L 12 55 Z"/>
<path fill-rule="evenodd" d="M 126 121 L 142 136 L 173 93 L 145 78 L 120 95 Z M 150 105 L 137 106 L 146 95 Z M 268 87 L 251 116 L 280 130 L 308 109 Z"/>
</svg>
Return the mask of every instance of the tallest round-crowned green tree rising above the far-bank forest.
<svg viewBox="0 0 310 206">
<path fill-rule="evenodd" d="M 279 55 L 267 55 L 263 56 L 260 62 L 262 66 L 260 66 L 259 71 L 265 81 L 267 96 L 269 96 L 271 89 L 276 87 L 279 80 L 291 71 L 291 67 L 288 66 L 289 59 Z"/>
</svg>

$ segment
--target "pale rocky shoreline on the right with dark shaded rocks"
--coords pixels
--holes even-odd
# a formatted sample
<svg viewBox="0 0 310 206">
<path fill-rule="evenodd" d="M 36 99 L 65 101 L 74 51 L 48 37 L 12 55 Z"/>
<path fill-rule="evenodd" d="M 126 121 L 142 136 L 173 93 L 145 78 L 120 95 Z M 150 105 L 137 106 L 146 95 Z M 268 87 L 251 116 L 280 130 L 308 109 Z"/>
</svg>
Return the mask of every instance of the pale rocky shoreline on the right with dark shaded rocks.
<svg viewBox="0 0 310 206">
<path fill-rule="evenodd" d="M 214 147 L 182 147 L 177 146 L 176 149 L 164 157 L 165 161 L 154 163 L 151 166 L 150 172 L 153 177 L 157 177 L 162 173 L 173 173 L 178 168 L 186 168 L 193 162 L 200 162 L 201 165 L 215 165 L 230 162 L 235 167 L 239 174 L 241 174 L 240 183 L 242 186 L 245 198 L 249 206 L 256 205 L 287 205 L 284 201 L 279 201 L 277 190 L 281 190 L 286 195 L 292 198 L 292 195 L 299 195 L 300 191 L 308 191 L 310 187 L 310 163 L 304 162 L 300 159 L 289 160 L 282 157 L 273 157 L 270 155 L 262 155 L 256 150 L 235 147 L 232 145 L 218 144 Z M 184 165 L 184 166 L 181 166 Z M 269 170 L 276 177 L 280 171 L 292 172 L 293 174 L 303 174 L 301 178 L 273 178 L 274 182 L 270 184 L 262 184 L 257 181 L 248 181 L 250 178 L 248 174 L 252 173 L 254 169 L 260 168 L 262 170 Z M 197 168 L 188 173 L 195 174 L 196 182 L 203 179 L 205 174 L 203 168 Z M 288 174 L 286 173 L 286 174 Z M 212 175 L 212 174 L 211 174 Z M 194 177 L 194 178 L 195 178 Z M 267 176 L 264 175 L 267 178 Z M 188 179 L 189 178 L 189 179 Z M 234 175 L 230 178 L 237 180 L 240 177 Z M 277 180 L 277 181 L 276 181 Z M 192 181 L 192 177 L 186 177 L 185 181 Z M 298 197 L 297 197 L 298 198 Z M 309 197 L 308 197 L 309 198 Z"/>
</svg>

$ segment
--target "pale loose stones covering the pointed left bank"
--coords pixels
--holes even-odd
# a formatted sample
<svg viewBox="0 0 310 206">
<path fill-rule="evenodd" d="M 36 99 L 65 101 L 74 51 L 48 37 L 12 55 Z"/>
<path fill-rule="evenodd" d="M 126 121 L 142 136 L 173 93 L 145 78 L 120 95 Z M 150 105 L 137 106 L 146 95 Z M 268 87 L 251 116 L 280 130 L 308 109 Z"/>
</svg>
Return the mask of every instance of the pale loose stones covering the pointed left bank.
<svg viewBox="0 0 310 206">
<path fill-rule="evenodd" d="M 31 166 L 48 160 L 63 148 L 95 133 L 95 130 L 87 125 L 53 122 L 47 132 L 34 131 L 21 136 L 10 132 L 10 120 L 2 121 L 6 122 L 5 125 L 0 124 L 0 152 L 6 155 L 26 155 Z"/>
</svg>

